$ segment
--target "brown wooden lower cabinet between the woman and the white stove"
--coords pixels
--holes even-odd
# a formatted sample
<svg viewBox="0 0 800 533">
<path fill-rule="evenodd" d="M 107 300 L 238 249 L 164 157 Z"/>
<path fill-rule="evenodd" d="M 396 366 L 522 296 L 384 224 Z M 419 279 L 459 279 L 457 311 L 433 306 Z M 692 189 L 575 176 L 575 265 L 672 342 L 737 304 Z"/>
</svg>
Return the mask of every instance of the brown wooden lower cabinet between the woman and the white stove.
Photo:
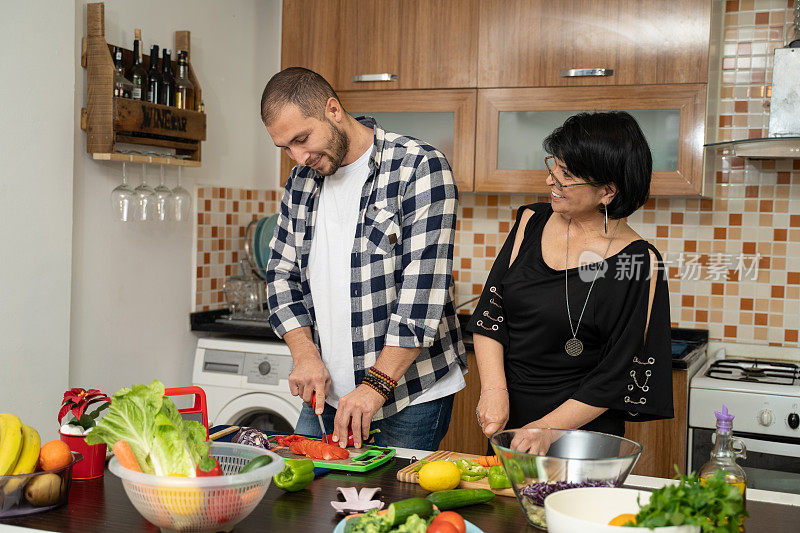
<svg viewBox="0 0 800 533">
<path fill-rule="evenodd" d="M 675 418 L 625 423 L 625 437 L 644 448 L 633 474 L 672 478 L 674 465 L 678 465 L 682 474 L 686 473 L 689 380 L 684 369 L 672 370 L 672 402 Z"/>
</svg>

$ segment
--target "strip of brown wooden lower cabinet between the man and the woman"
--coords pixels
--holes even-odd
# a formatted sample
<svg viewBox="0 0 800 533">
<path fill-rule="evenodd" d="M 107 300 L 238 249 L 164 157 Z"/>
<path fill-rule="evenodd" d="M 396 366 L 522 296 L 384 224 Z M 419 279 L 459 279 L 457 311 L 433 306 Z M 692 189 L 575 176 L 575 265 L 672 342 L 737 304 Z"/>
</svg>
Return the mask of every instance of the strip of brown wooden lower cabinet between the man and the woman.
<svg viewBox="0 0 800 533">
<path fill-rule="evenodd" d="M 469 372 L 464 376 L 467 386 L 456 393 L 453 399 L 453 414 L 450 429 L 439 444 L 440 450 L 486 455 L 489 440 L 478 426 L 475 408 L 481 397 L 481 380 L 475 352 L 467 352 Z"/>
</svg>

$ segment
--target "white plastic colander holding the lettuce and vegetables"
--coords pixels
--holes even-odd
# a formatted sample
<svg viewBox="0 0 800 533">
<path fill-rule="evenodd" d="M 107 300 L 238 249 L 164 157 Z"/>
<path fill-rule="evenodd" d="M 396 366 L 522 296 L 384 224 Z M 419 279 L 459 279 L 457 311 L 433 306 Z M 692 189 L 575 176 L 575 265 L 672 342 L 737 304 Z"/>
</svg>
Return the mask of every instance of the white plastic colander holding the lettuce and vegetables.
<svg viewBox="0 0 800 533">
<path fill-rule="evenodd" d="M 122 479 L 133 506 L 161 531 L 230 531 L 244 520 L 264 497 L 272 476 L 283 471 L 283 458 L 248 446 L 217 442 L 210 455 L 225 475 L 213 477 L 154 476 L 122 467 L 117 458 L 108 469 Z M 239 470 L 260 455 L 272 462 L 250 472 Z"/>
</svg>

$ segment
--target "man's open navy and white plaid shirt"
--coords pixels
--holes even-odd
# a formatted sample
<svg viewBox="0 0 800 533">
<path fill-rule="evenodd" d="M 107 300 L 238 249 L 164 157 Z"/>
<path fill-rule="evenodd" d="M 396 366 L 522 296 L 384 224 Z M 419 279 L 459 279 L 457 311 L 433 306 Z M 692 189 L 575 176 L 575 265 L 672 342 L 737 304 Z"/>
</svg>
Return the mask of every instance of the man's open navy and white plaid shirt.
<svg viewBox="0 0 800 533">
<path fill-rule="evenodd" d="M 458 190 L 441 152 L 385 132 L 370 117 L 358 120 L 373 128 L 375 143 L 351 254 L 355 382 L 384 346 L 422 348 L 373 417 L 378 420 L 409 405 L 454 365 L 467 365 L 452 277 Z M 311 167 L 294 167 L 267 263 L 272 328 L 283 337 L 311 326 L 318 349 L 308 258 L 323 183 Z"/>
</svg>

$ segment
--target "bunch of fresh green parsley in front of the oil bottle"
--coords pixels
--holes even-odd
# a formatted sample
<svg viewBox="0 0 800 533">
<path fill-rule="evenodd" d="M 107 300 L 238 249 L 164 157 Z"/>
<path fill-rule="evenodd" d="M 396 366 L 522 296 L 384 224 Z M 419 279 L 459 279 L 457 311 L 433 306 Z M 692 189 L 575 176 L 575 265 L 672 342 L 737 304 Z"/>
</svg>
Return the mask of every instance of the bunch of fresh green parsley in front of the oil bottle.
<svg viewBox="0 0 800 533">
<path fill-rule="evenodd" d="M 703 533 L 738 533 L 746 517 L 741 491 L 719 470 L 702 481 L 697 474 L 680 476 L 677 485 L 654 490 L 636 515 L 636 527 L 696 525 Z"/>
</svg>

